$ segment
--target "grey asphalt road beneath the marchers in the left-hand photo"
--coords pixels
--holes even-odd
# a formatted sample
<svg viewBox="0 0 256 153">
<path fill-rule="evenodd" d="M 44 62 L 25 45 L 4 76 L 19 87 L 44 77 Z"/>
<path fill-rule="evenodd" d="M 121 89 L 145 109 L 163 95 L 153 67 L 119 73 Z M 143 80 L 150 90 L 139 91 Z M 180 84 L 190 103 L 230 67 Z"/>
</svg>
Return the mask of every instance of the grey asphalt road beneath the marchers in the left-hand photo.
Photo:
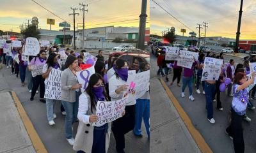
<svg viewBox="0 0 256 153">
<path fill-rule="evenodd" d="M 93 54 L 96 55 L 96 54 Z M 108 55 L 104 55 L 106 58 Z M 39 101 L 39 94 L 36 94 L 35 100 L 30 101 L 29 98 L 31 93 L 28 92 L 27 87 L 22 87 L 20 84 L 20 78 L 16 78 L 15 75 L 10 74 L 10 69 L 6 67 L 0 70 L 0 91 L 15 91 L 24 110 L 28 114 L 33 126 L 35 127 L 36 132 L 40 136 L 42 142 L 45 145 L 45 148 L 48 152 L 75 152 L 72 149 L 72 146 L 68 144 L 65 138 L 65 116 L 61 115 L 60 112 L 60 102 L 56 103 L 54 111 L 56 112 L 57 118 L 54 120 L 56 124 L 54 126 L 49 126 L 46 116 L 46 106 L 44 103 Z M 25 80 L 27 82 L 27 79 Z M 1 97 L 2 98 L 2 97 Z M 3 107 L 1 103 L 1 108 Z M 3 112 L 1 112 L 3 115 Z M 3 122 L 1 122 L 3 123 Z M 10 123 L 6 122 L 5 126 L 0 126 L 0 131 L 2 132 L 3 128 L 6 128 Z M 3 124 L 1 124 L 3 125 Z M 77 130 L 78 123 L 73 125 L 74 127 L 74 136 Z M 143 130 L 143 138 L 137 138 L 133 135 L 132 131 L 127 133 L 125 136 L 125 152 L 149 152 L 149 141 L 147 134 L 145 133 L 145 126 L 141 126 Z M 3 136 L 3 135 L 2 135 Z M 2 137 L 1 137 L 2 138 Z M 1 145 L 0 145 L 1 147 Z M 0 149 L 1 150 L 1 149 Z M 1 151 L 0 151 L 1 152 Z M 115 138 L 111 134 L 111 142 L 109 145 L 110 153 L 115 153 Z"/>
</svg>

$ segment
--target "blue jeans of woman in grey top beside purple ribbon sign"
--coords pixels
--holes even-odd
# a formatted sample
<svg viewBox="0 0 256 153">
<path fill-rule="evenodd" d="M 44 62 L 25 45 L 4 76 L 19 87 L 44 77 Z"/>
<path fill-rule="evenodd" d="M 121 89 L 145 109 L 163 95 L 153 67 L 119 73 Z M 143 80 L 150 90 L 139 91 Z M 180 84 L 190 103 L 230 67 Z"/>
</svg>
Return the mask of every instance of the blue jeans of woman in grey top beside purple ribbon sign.
<svg viewBox="0 0 256 153">
<path fill-rule="evenodd" d="M 76 92 L 76 101 L 74 103 L 61 101 L 67 113 L 65 118 L 65 136 L 67 139 L 74 138 L 72 124 L 77 120 L 79 96 L 80 92 Z"/>
</svg>

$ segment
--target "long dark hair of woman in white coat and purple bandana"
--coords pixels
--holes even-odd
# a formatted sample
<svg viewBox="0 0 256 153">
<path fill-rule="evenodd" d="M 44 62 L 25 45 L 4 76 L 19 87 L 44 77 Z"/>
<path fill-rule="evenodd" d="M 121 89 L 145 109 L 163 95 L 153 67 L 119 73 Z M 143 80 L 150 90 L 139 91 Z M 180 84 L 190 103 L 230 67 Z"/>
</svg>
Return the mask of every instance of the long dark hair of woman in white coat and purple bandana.
<svg viewBox="0 0 256 153">
<path fill-rule="evenodd" d="M 88 87 L 86 88 L 86 93 L 90 96 L 90 99 L 91 99 L 91 111 L 92 112 L 93 112 L 93 110 L 96 110 L 96 105 L 97 105 L 97 99 L 95 99 L 92 89 L 93 89 L 93 85 L 97 84 L 97 82 L 99 80 L 102 80 L 102 82 L 104 83 L 104 79 L 99 73 L 93 74 L 90 77 Z M 106 101 L 109 101 L 105 87 L 104 87 L 103 94 L 105 96 Z"/>
</svg>

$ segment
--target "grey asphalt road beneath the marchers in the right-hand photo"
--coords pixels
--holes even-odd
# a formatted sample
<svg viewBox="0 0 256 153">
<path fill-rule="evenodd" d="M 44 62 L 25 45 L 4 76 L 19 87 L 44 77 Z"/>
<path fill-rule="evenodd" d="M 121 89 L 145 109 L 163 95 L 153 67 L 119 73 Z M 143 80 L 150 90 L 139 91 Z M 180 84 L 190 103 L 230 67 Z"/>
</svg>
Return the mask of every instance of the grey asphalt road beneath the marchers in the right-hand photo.
<svg viewBox="0 0 256 153">
<path fill-rule="evenodd" d="M 228 57 L 228 55 L 225 55 L 225 59 L 228 58 L 234 57 Z M 241 61 L 243 60 L 239 59 L 239 62 Z M 235 62 L 237 63 L 236 60 Z M 154 55 L 150 56 L 150 64 L 150 78 L 157 77 L 158 67 L 156 64 L 156 57 Z M 172 74 L 169 75 L 169 80 L 172 80 Z M 180 83 L 182 82 L 180 81 Z M 195 101 L 189 100 L 188 87 L 186 87 L 185 91 L 186 97 L 181 98 L 181 87 L 177 86 L 177 80 L 175 80 L 175 83 L 172 86 L 170 86 L 170 81 L 166 82 L 166 85 L 168 85 L 175 98 L 179 101 L 184 111 L 188 114 L 193 123 L 193 126 L 204 137 L 205 142 L 208 143 L 213 152 L 234 152 L 232 140 L 230 140 L 230 138 L 225 134 L 225 128 L 227 128 L 229 124 L 229 108 L 232 102 L 232 98 L 228 97 L 226 93 L 221 92 L 221 104 L 223 106 L 223 111 L 217 110 L 216 102 L 213 103 L 213 115 L 216 123 L 211 124 L 207 120 L 207 112 L 205 111 L 205 96 L 204 94 L 196 93 L 195 85 L 193 85 L 193 96 Z M 202 85 L 200 85 L 200 90 L 202 92 Z M 150 94 L 150 96 L 152 97 L 152 94 Z M 255 101 L 253 103 L 256 105 Z M 245 152 L 253 153 L 256 152 L 256 113 L 253 110 L 247 110 L 246 114 L 252 119 L 252 122 L 248 123 L 243 121 Z M 154 120 L 152 122 L 154 122 Z M 172 129 L 172 127 L 170 127 L 170 129 Z M 171 136 L 172 135 L 170 135 L 170 137 Z M 170 145 L 170 143 L 167 143 L 166 145 Z"/>
</svg>

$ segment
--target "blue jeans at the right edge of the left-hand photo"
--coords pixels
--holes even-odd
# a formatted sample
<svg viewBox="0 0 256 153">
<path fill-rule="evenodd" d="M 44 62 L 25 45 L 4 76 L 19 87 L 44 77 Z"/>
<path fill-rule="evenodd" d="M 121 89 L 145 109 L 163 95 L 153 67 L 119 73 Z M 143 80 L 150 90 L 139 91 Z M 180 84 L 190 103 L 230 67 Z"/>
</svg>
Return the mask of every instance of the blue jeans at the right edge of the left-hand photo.
<svg viewBox="0 0 256 153">
<path fill-rule="evenodd" d="M 135 107 L 135 126 L 133 129 L 134 135 L 141 135 L 141 122 L 142 118 L 144 120 L 144 124 L 146 127 L 147 135 L 149 138 L 149 110 L 150 103 L 149 99 L 136 99 L 136 107 Z"/>
</svg>

